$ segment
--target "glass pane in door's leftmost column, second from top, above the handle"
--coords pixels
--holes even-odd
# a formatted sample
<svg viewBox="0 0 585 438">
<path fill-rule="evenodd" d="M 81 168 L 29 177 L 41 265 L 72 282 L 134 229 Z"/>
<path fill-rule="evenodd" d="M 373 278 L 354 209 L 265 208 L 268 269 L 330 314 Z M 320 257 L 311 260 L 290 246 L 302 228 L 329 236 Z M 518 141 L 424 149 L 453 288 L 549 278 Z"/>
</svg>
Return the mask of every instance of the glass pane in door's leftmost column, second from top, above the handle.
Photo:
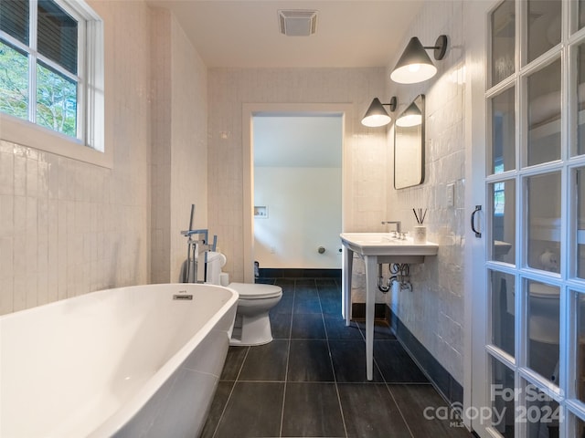
<svg viewBox="0 0 585 438">
<path fill-rule="evenodd" d="M 516 168 L 515 88 L 505 89 L 490 99 L 492 109 L 492 145 L 488 174 Z"/>
</svg>

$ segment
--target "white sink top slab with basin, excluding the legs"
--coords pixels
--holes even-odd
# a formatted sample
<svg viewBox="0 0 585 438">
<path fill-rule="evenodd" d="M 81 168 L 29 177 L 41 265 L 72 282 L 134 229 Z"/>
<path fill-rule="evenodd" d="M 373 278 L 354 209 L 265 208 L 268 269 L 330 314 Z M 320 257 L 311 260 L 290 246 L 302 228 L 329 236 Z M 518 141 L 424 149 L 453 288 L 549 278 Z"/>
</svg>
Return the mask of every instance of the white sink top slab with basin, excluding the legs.
<svg viewBox="0 0 585 438">
<path fill-rule="evenodd" d="M 341 242 L 360 255 L 378 255 L 378 263 L 423 263 L 425 255 L 437 255 L 439 245 L 415 244 L 390 233 L 342 233 Z"/>
</svg>

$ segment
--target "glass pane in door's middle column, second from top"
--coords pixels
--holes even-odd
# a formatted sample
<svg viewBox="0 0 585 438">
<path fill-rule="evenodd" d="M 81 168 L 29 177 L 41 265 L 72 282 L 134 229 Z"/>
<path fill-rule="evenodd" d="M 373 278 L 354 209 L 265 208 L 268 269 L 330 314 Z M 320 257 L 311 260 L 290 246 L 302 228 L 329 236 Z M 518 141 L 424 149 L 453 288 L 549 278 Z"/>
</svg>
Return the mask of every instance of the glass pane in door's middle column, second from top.
<svg viewBox="0 0 585 438">
<path fill-rule="evenodd" d="M 560 159 L 560 59 L 527 78 L 527 164 Z"/>
</svg>

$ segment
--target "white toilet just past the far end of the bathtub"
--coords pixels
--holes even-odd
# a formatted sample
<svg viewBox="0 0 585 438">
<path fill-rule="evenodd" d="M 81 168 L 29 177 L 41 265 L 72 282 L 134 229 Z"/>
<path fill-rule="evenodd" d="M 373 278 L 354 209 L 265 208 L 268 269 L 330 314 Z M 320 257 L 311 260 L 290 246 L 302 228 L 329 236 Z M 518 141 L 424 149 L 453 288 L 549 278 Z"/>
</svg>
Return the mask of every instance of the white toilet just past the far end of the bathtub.
<svg viewBox="0 0 585 438">
<path fill-rule="evenodd" d="M 226 256 L 207 252 L 206 283 L 227 286 L 239 294 L 236 321 L 229 345 L 262 345 L 271 342 L 269 312 L 282 298 L 282 287 L 257 283 L 228 283 L 221 272 Z"/>
</svg>

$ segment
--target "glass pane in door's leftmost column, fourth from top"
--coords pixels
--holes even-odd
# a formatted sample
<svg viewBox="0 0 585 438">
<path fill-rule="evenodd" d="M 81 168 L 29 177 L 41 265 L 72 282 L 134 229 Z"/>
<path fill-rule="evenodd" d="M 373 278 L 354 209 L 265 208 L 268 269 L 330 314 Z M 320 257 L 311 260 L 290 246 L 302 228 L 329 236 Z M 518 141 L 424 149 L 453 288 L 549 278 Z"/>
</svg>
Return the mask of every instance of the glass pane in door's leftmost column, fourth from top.
<svg viewBox="0 0 585 438">
<path fill-rule="evenodd" d="M 490 271 L 492 301 L 492 344 L 514 357 L 516 341 L 514 309 L 515 277 Z"/>
</svg>

